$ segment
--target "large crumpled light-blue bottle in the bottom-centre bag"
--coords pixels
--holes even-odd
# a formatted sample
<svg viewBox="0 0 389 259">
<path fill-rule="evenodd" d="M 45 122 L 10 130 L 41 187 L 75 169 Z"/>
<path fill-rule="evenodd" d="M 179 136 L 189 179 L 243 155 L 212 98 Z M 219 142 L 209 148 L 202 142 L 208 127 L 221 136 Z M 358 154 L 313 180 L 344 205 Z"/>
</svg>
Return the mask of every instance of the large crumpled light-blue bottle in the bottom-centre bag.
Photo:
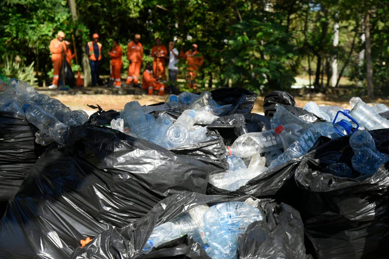
<svg viewBox="0 0 389 259">
<path fill-rule="evenodd" d="M 244 202 L 231 201 L 210 207 L 204 214 L 204 230 L 212 258 L 236 258 L 239 235 L 252 222 L 264 219 L 258 208 Z"/>
</svg>

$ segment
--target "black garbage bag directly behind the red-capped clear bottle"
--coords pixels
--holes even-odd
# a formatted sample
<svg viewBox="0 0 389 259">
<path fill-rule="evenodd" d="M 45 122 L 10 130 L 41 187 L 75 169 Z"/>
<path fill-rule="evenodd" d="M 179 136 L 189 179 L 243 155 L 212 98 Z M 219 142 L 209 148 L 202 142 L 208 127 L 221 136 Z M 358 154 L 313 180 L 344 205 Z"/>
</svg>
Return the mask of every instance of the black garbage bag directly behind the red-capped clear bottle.
<svg viewBox="0 0 389 259">
<path fill-rule="evenodd" d="M 231 114 L 219 117 L 207 126 L 217 129 L 223 137 L 225 145 L 232 143 L 240 136 L 249 132 L 261 132 L 271 129 L 270 117 L 255 113 Z"/>
</svg>

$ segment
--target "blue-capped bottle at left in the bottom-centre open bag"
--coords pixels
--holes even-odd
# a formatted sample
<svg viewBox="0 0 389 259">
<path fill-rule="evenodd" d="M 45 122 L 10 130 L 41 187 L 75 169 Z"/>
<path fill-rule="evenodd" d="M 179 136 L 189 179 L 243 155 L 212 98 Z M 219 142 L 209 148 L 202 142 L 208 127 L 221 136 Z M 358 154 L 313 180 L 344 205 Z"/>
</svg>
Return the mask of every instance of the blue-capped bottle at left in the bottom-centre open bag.
<svg viewBox="0 0 389 259">
<path fill-rule="evenodd" d="M 179 227 L 172 222 L 166 222 L 156 226 L 143 247 L 143 252 L 149 252 L 153 247 L 158 247 L 158 245 L 179 238 L 180 236 L 181 231 Z"/>
</svg>

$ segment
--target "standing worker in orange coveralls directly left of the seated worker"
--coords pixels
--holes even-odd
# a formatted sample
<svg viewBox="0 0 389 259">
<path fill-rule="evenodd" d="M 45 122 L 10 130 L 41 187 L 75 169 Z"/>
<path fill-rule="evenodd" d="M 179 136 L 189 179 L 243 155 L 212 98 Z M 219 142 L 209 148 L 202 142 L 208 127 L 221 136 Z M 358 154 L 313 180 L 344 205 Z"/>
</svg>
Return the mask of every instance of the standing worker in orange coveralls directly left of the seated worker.
<svg viewBox="0 0 389 259">
<path fill-rule="evenodd" d="M 140 67 L 143 62 L 143 46 L 139 42 L 140 35 L 135 34 L 135 39 L 131 40 L 127 46 L 127 59 L 130 62 L 128 66 L 128 75 L 126 84 L 139 84 Z"/>
</svg>

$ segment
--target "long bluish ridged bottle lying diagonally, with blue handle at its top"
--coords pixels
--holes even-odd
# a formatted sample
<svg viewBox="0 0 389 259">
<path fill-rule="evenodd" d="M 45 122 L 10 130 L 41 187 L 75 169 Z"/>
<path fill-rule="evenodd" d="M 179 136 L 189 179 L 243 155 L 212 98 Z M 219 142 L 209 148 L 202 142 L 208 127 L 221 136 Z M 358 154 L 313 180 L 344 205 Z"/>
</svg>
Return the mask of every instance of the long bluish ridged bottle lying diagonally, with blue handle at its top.
<svg viewBox="0 0 389 259">
<path fill-rule="evenodd" d="M 282 165 L 289 160 L 307 154 L 319 137 L 324 136 L 336 139 L 351 133 L 352 125 L 347 120 L 332 124 L 331 122 L 318 122 L 305 131 L 284 153 L 275 159 L 269 168 Z"/>
</svg>

